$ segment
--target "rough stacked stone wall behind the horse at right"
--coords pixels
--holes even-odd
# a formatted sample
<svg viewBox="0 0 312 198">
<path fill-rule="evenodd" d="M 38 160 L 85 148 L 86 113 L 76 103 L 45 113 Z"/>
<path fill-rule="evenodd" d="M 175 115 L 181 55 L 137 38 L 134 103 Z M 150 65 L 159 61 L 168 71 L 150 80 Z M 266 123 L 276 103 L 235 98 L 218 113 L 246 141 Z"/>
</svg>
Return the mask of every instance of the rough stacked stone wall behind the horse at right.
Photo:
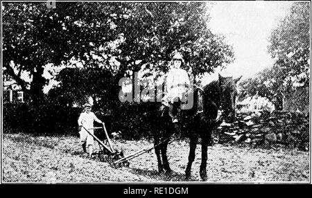
<svg viewBox="0 0 312 198">
<path fill-rule="evenodd" d="M 256 146 L 287 145 L 309 150 L 309 115 L 288 111 L 236 114 L 234 123 L 214 130 L 214 143 L 247 143 Z"/>
</svg>

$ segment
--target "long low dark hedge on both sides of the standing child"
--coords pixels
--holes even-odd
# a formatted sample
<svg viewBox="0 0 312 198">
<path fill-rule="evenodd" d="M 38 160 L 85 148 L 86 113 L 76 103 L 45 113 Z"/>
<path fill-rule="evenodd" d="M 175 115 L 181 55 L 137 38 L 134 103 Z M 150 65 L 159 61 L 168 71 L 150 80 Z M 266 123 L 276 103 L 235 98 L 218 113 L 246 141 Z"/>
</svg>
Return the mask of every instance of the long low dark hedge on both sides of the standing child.
<svg viewBox="0 0 312 198">
<path fill-rule="evenodd" d="M 76 134 L 81 108 L 57 105 L 46 100 L 36 107 L 26 103 L 5 104 L 3 106 L 4 132 L 26 132 L 32 134 Z M 146 114 L 148 103 L 119 103 L 110 109 L 94 107 L 94 114 L 105 122 L 107 130 L 121 132 L 121 137 L 138 140 L 149 137 L 150 120 Z M 96 123 L 95 123 L 96 125 Z M 98 133 L 103 136 L 103 134 Z M 104 138 L 104 136 L 103 136 Z"/>
</svg>

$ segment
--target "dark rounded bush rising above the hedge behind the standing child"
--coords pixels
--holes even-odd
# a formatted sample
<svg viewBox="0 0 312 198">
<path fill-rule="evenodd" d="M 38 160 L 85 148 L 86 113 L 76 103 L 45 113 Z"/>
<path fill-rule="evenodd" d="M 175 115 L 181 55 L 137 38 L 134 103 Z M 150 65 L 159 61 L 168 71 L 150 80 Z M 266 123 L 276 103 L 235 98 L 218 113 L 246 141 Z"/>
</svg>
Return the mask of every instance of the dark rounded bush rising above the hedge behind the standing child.
<svg viewBox="0 0 312 198">
<path fill-rule="evenodd" d="M 111 102 L 107 98 L 110 98 L 114 89 L 119 88 L 118 84 L 113 84 L 115 80 L 112 73 L 99 68 L 62 69 L 56 80 L 60 84 L 49 91 L 48 97 L 61 106 L 71 107 L 76 103 L 78 107 L 83 107 L 87 97 L 92 96 L 96 99 L 96 105 L 107 107 Z"/>
</svg>

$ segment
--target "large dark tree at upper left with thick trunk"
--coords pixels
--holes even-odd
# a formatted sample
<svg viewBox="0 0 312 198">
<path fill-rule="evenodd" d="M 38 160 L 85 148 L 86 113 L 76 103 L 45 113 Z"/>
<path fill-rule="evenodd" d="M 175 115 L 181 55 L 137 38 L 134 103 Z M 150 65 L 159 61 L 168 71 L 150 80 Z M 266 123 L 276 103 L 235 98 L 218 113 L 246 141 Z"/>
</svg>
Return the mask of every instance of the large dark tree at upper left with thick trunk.
<svg viewBox="0 0 312 198">
<path fill-rule="evenodd" d="M 44 65 L 66 65 L 74 58 L 94 66 L 92 52 L 116 39 L 110 12 L 119 4 L 57 2 L 52 9 L 46 3 L 3 3 L 4 73 L 39 102 Z M 22 71 L 31 75 L 31 84 L 21 78 Z"/>
</svg>

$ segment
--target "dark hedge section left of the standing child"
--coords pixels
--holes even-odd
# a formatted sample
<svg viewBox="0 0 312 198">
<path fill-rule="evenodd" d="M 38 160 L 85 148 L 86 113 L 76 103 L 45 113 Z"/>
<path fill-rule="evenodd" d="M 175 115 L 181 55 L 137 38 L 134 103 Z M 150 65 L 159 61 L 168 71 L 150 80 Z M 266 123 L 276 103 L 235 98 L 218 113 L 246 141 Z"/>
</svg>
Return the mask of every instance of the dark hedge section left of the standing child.
<svg viewBox="0 0 312 198">
<path fill-rule="evenodd" d="M 37 107 L 26 103 L 6 104 L 3 106 L 3 129 L 5 132 L 73 134 L 80 111 L 53 105 L 53 102 L 42 102 Z"/>
</svg>

